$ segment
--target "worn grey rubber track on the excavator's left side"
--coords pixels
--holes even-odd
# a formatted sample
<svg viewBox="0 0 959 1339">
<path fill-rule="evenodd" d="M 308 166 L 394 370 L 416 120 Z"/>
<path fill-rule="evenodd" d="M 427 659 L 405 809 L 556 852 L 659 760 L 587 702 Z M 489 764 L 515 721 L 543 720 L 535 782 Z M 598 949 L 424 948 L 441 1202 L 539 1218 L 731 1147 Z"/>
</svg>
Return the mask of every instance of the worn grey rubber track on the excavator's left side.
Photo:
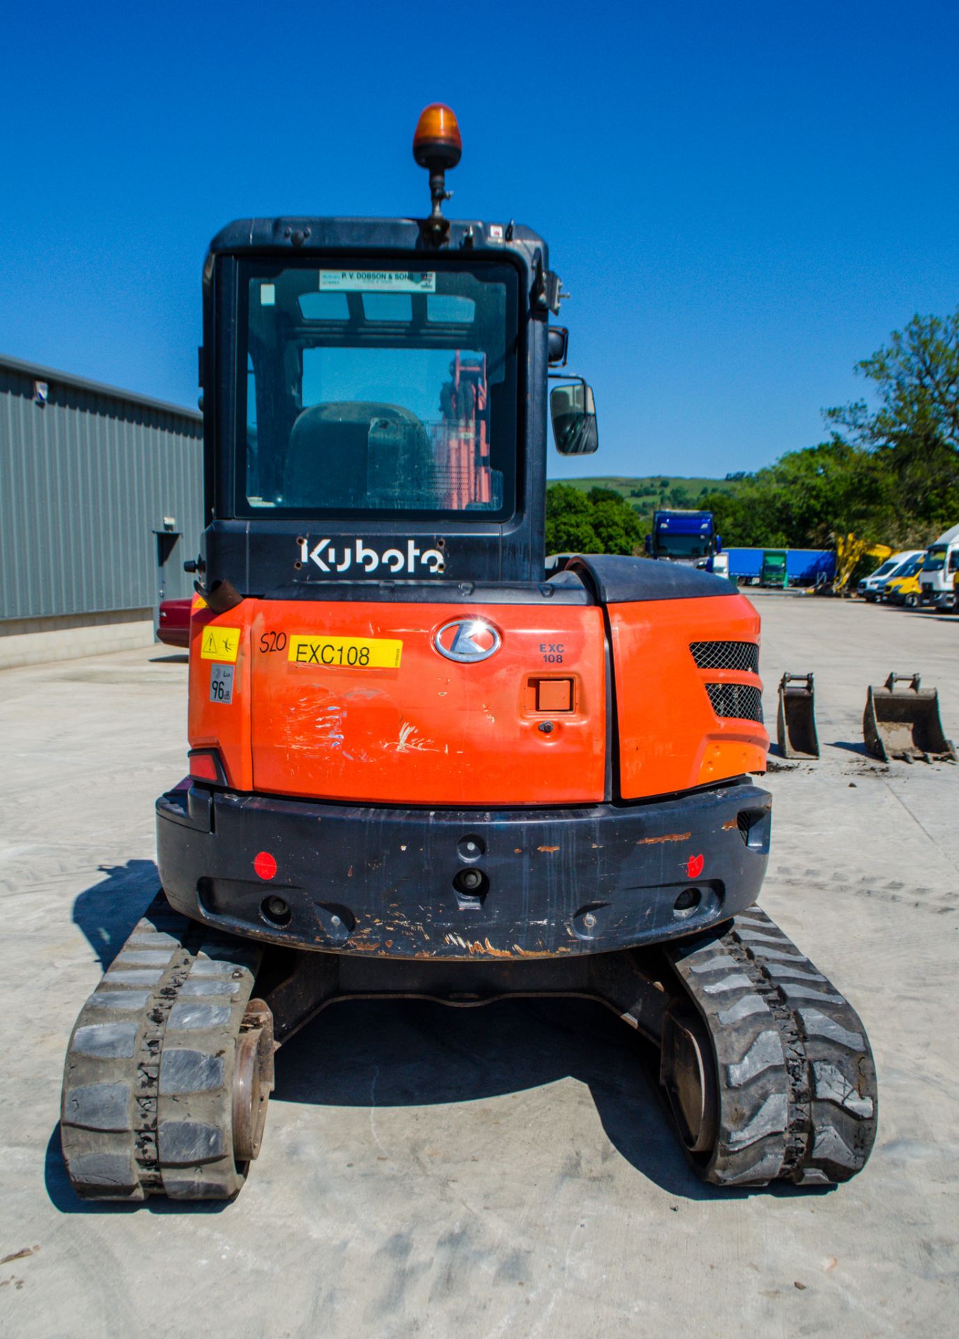
<svg viewBox="0 0 959 1339">
<path fill-rule="evenodd" d="M 70 1038 L 60 1138 L 78 1194 L 237 1194 L 233 1066 L 261 953 L 151 902 Z"/>
</svg>

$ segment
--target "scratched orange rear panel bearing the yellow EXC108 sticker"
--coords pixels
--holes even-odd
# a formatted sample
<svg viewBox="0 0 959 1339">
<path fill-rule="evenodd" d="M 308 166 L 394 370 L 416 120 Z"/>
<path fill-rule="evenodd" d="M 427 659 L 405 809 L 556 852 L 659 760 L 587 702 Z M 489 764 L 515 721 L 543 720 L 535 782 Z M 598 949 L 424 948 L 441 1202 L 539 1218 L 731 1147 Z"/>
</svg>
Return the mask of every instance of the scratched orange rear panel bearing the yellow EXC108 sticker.
<svg viewBox="0 0 959 1339">
<path fill-rule="evenodd" d="M 463 615 L 500 632 L 488 660 L 459 664 L 435 649 L 433 633 Z M 599 609 L 245 600 L 219 619 L 246 632 L 234 700 L 209 700 L 210 661 L 191 656 L 190 742 L 217 743 L 239 789 L 471 807 L 603 798 Z M 205 621 L 194 617 L 194 636 Z M 292 663 L 297 635 L 399 639 L 400 667 Z M 562 663 L 547 661 L 556 652 L 540 647 L 559 644 Z M 544 672 L 574 678 L 574 711 L 528 710 L 527 679 Z"/>
</svg>

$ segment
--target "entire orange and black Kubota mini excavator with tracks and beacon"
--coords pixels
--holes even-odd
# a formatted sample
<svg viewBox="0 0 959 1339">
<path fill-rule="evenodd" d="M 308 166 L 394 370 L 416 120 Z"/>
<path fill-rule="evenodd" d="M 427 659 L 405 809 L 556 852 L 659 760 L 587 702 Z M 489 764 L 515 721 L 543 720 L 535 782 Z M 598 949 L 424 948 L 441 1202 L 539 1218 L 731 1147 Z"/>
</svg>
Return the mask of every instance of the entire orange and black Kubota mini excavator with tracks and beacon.
<svg viewBox="0 0 959 1339">
<path fill-rule="evenodd" d="M 584 995 L 659 1052 L 714 1184 L 845 1180 L 875 1131 L 861 1023 L 756 908 L 760 620 L 728 581 L 544 553 L 560 284 L 512 222 L 245 220 L 203 269 L 206 529 L 189 775 L 162 889 L 64 1073 L 94 1200 L 229 1198 L 273 1056 L 326 1006 Z M 282 1063 L 282 1060 L 281 1060 Z"/>
</svg>

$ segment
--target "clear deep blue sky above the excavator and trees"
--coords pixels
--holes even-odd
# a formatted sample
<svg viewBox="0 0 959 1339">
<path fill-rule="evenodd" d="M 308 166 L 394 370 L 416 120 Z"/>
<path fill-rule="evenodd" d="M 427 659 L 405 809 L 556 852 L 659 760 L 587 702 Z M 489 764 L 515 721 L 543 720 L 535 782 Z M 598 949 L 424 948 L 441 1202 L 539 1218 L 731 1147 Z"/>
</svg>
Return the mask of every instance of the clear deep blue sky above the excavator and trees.
<svg viewBox="0 0 959 1339">
<path fill-rule="evenodd" d="M 194 403 L 213 233 L 423 213 L 444 100 L 449 212 L 536 228 L 572 293 L 578 473 L 756 469 L 959 305 L 958 46 L 924 0 L 9 8 L 0 351 Z"/>
</svg>

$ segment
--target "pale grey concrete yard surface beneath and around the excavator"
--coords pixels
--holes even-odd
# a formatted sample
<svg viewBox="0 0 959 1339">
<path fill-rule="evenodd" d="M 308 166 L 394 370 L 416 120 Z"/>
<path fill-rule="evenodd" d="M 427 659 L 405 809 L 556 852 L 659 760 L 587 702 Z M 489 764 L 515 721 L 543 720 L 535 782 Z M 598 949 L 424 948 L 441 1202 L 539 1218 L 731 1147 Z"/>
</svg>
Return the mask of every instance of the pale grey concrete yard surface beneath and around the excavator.
<svg viewBox="0 0 959 1339">
<path fill-rule="evenodd" d="M 865 686 L 920 670 L 959 736 L 959 617 L 758 595 L 766 712 L 817 678 L 824 757 L 770 773 L 762 904 L 860 1011 L 880 1129 L 837 1190 L 697 1182 L 598 1006 L 350 1004 L 278 1056 L 230 1205 L 96 1208 L 56 1133 L 76 1012 L 155 886 L 185 767 L 163 648 L 0 675 L 0 1332 L 955 1334 L 959 767 L 880 767 Z"/>
</svg>

